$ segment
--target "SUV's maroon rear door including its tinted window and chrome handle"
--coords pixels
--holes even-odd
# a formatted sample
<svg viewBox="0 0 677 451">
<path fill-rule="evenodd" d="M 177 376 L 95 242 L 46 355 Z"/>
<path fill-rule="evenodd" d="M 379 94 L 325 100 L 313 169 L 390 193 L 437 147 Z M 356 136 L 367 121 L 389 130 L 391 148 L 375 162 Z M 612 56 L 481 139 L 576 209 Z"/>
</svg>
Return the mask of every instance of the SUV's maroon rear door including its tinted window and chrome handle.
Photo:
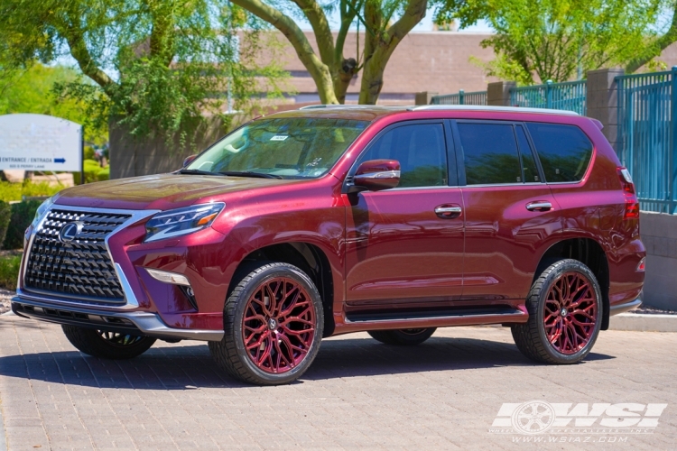
<svg viewBox="0 0 677 451">
<path fill-rule="evenodd" d="M 464 300 L 524 299 L 560 211 L 524 124 L 453 121 L 465 213 Z"/>
</svg>

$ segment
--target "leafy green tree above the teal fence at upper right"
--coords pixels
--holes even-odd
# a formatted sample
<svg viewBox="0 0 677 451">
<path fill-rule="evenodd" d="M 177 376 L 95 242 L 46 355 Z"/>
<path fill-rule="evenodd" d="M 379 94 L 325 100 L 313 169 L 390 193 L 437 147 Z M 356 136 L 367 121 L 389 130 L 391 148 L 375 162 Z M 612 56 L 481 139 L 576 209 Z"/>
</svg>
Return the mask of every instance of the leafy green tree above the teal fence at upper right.
<svg viewBox="0 0 677 451">
<path fill-rule="evenodd" d="M 486 20 L 482 41 L 496 60 L 488 75 L 521 84 L 567 81 L 587 70 L 623 65 L 653 39 L 662 0 L 448 0 L 436 17 L 460 26 Z"/>
</svg>

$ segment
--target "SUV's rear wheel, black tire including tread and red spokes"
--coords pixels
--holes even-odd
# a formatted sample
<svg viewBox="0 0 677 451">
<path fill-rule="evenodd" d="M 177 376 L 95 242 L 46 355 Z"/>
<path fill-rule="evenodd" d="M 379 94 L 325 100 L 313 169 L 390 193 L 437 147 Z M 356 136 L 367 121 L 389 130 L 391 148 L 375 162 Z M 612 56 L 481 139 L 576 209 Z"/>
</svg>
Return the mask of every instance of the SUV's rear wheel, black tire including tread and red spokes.
<svg viewBox="0 0 677 451">
<path fill-rule="evenodd" d="M 575 312 L 569 311 L 567 313 L 560 313 L 557 315 L 548 315 L 546 316 L 546 300 L 548 299 L 548 293 L 552 289 L 555 283 L 561 283 L 562 276 L 565 274 L 570 274 L 566 277 L 581 277 L 581 280 L 586 280 L 589 282 L 589 291 L 590 296 L 594 292 L 594 299 L 586 301 L 586 305 L 594 306 L 595 308 L 595 320 L 592 324 L 592 320 L 585 317 L 577 317 Z M 574 279 L 575 280 L 575 279 Z M 582 291 L 581 291 L 582 292 Z M 582 297 L 584 294 L 579 294 L 578 296 Z M 580 297 L 578 299 L 580 299 Z M 556 305 L 552 300 L 548 301 L 549 311 L 552 311 L 552 306 Z M 562 304 L 563 306 L 564 304 Z M 533 282 L 532 289 L 529 291 L 529 295 L 526 298 L 526 308 L 529 312 L 529 319 L 524 324 L 518 324 L 511 327 L 513 338 L 515 339 L 515 345 L 530 359 L 535 362 L 542 364 L 578 364 L 583 360 L 592 349 L 592 346 L 595 345 L 595 341 L 599 335 L 599 329 L 602 324 L 602 294 L 599 289 L 599 283 L 595 274 L 590 271 L 588 266 L 579 262 L 578 260 L 564 259 L 557 262 L 553 262 L 548 266 L 541 275 Z M 566 308 L 566 307 L 563 307 Z M 562 308 L 562 309 L 563 309 Z M 560 330 L 570 330 L 562 328 L 565 318 L 570 315 L 569 320 L 583 320 L 587 321 L 586 326 L 578 327 L 573 325 L 576 332 L 571 333 L 567 332 L 564 334 L 564 339 L 568 339 L 571 349 L 565 349 L 566 352 L 561 352 L 562 347 L 560 343 L 553 344 L 548 338 L 545 327 L 545 319 L 551 318 L 551 321 L 559 321 Z M 580 324 L 580 323 L 577 323 Z M 555 331 L 557 328 L 554 329 Z M 587 342 L 582 340 L 578 344 L 580 339 L 577 332 L 581 332 L 581 336 L 585 336 Z M 558 336 L 563 336 L 562 332 Z M 577 340 L 576 345 L 573 345 L 573 337 Z M 557 341 L 559 338 L 553 339 Z M 558 348 L 559 345 L 559 348 Z M 578 349 L 578 350 L 576 350 Z"/>
</svg>

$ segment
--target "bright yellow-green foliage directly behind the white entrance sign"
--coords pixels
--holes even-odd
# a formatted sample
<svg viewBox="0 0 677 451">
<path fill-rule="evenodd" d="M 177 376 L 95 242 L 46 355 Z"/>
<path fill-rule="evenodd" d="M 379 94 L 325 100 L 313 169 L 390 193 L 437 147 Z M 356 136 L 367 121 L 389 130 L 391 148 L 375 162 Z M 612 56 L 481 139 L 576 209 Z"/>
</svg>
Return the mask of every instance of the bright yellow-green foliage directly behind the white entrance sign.
<svg viewBox="0 0 677 451">
<path fill-rule="evenodd" d="M 5 72 L 5 83 L 0 89 L 0 115 L 35 113 L 53 115 L 85 125 L 85 140 L 103 144 L 108 141 L 106 126 L 91 123 L 89 106 L 74 98 L 60 98 L 53 92 L 55 84 L 73 83 L 79 74 L 63 66 L 47 67 L 32 64 L 26 70 Z"/>
</svg>

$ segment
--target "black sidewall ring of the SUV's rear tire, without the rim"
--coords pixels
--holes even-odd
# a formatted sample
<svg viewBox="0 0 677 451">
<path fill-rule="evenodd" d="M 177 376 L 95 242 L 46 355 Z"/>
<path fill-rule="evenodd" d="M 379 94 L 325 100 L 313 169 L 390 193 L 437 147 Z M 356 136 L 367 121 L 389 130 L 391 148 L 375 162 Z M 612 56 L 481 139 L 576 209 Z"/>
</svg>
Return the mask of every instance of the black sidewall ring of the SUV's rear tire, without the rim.
<svg viewBox="0 0 677 451">
<path fill-rule="evenodd" d="M 585 264 L 578 262 L 576 260 L 564 260 L 554 263 L 552 266 L 556 266 L 552 271 L 548 273 L 543 283 L 543 288 L 538 293 L 538 307 L 536 310 L 536 321 L 538 326 L 538 335 L 540 336 L 545 351 L 550 354 L 552 359 L 556 360 L 560 364 L 576 364 L 584 359 L 592 349 L 592 346 L 595 345 L 597 337 L 599 335 L 599 330 L 602 325 L 602 293 L 599 289 L 599 283 L 595 274 L 591 272 Z M 546 270 L 547 271 L 547 270 Z M 595 298 L 597 300 L 597 321 L 595 322 L 595 328 L 592 331 L 592 335 L 586 344 L 580 351 L 575 354 L 562 354 L 557 351 L 550 343 L 547 334 L 545 333 L 545 300 L 548 297 L 548 293 L 552 287 L 552 284 L 564 273 L 564 272 L 578 272 L 581 275 L 585 276 L 589 280 L 593 289 L 595 290 Z"/>
</svg>

